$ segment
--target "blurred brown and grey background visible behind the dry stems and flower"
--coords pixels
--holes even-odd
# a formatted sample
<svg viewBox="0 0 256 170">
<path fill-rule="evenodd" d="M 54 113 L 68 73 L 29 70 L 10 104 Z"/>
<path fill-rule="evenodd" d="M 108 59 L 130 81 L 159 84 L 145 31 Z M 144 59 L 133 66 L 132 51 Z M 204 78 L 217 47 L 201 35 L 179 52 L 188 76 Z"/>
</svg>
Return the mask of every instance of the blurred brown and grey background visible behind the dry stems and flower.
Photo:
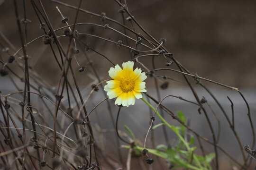
<svg viewBox="0 0 256 170">
<path fill-rule="evenodd" d="M 31 6 L 30 0 L 25 1 L 27 4 L 27 18 L 31 20 L 31 23 L 27 26 L 27 42 L 30 42 L 38 36 L 43 35 L 44 32 L 40 30 L 40 23 Z M 79 3 L 79 0 L 61 1 L 75 7 L 77 7 Z M 76 12 L 75 9 L 62 6 L 51 2 L 50 0 L 42 0 L 42 2 L 55 29 L 65 26 L 65 24 L 61 22 L 62 17 L 55 8 L 56 6 L 61 10 L 64 17 L 69 18 L 69 24 L 73 24 Z M 172 52 L 174 57 L 184 67 L 190 70 L 192 74 L 197 73 L 201 77 L 241 89 L 251 107 L 252 120 L 256 119 L 256 1 L 127 0 L 127 4 L 130 13 L 149 34 L 151 34 L 156 40 L 163 37 L 166 38 L 167 41 L 164 44 L 165 48 Z M 18 5 L 19 15 L 22 18 L 22 2 L 18 1 Z M 118 12 L 120 7 L 114 0 L 83 0 L 81 8 L 100 15 L 104 12 L 107 17 L 117 20 L 120 23 L 123 22 L 123 18 Z M 126 18 L 128 15 L 124 13 L 124 17 Z M 109 26 L 119 30 L 120 32 L 124 32 L 123 27 L 113 22 L 108 20 L 102 21 L 100 17 L 94 17 L 80 12 L 77 23 L 85 22 L 96 23 L 102 26 L 109 24 Z M 130 22 L 125 21 L 125 24 L 132 28 Z M 138 33 L 145 35 L 137 26 L 135 26 L 135 24 L 133 26 Z M 78 33 L 94 34 L 110 39 L 114 42 L 121 40 L 123 44 L 127 44 L 124 36 L 116 34 L 109 29 L 105 30 L 104 28 L 90 25 L 77 26 L 76 29 Z M 12 0 L 0 0 L 0 32 L 6 36 L 16 49 L 21 47 Z M 57 35 L 63 35 L 64 29 L 57 31 L 56 33 Z M 136 39 L 134 34 L 131 34 L 130 32 L 127 32 L 127 34 Z M 81 34 L 79 37 L 93 49 L 100 51 L 110 60 L 114 61 L 115 64 L 121 65 L 122 62 L 126 62 L 131 59 L 129 50 L 124 47 L 118 49 L 116 44 L 102 41 L 88 35 Z M 68 39 L 60 38 L 60 40 L 63 43 L 64 48 L 66 48 Z M 2 42 L 4 46 L 8 46 L 2 36 L 0 37 L 0 42 Z M 131 47 L 135 47 L 134 42 L 129 41 L 128 43 Z M 41 76 L 42 80 L 54 88 L 58 83 L 58 77 L 61 71 L 55 62 L 50 47 L 44 44 L 42 38 L 39 38 L 35 42 L 29 44 L 27 49 L 30 57 L 29 66 L 33 68 L 39 76 Z M 99 76 L 101 80 L 109 79 L 108 70 L 112 65 L 99 54 L 93 51 L 85 51 L 85 46 L 83 44 L 78 43 L 77 49 L 81 51 L 76 55 L 77 62 L 80 66 L 85 66 L 85 71 L 78 71 L 79 66 L 74 59 L 72 65 L 75 70 L 74 74 L 77 78 L 78 85 L 82 89 L 82 95 L 86 98 L 91 91 L 91 84 L 96 84 L 97 80 L 93 75 L 93 70 L 89 67 L 87 59 L 84 57 L 84 54 L 86 53 L 93 63 L 94 68 L 100 73 Z M 141 46 L 138 46 L 138 49 L 146 50 Z M 15 52 L 11 51 L 11 49 L 9 51 L 11 54 Z M 22 52 L 20 52 L 20 54 L 22 54 Z M 8 54 L 2 51 L 0 55 L 6 62 Z M 140 61 L 143 62 L 147 68 L 153 69 L 151 58 L 141 58 Z M 163 57 L 155 57 L 155 68 L 164 68 L 165 63 L 166 60 Z M 0 66 L 0 68 L 1 67 L 2 66 Z M 9 67 L 17 71 L 20 70 L 14 65 L 10 65 Z M 141 66 L 137 64 L 136 67 Z M 21 72 L 20 75 L 22 74 L 23 73 Z M 165 71 L 157 72 L 157 74 L 166 75 L 170 78 L 183 82 L 180 83 L 168 80 L 168 88 L 160 88 L 160 98 L 163 98 L 167 94 L 173 94 L 195 101 L 192 92 L 189 87 L 184 84 L 185 81 L 180 74 Z M 70 75 L 69 78 L 71 78 Z M 18 85 L 20 85 L 20 88 L 23 88 L 22 82 L 18 79 L 15 80 L 18 82 Z M 238 160 L 241 159 L 237 141 L 235 141 L 234 135 L 232 134 L 227 121 L 220 112 L 218 106 L 204 89 L 195 84 L 193 78 L 190 78 L 189 80 L 192 85 L 195 86 L 199 97 L 202 98 L 202 96 L 204 96 L 207 101 L 211 103 L 211 107 L 219 116 L 219 120 L 221 121 L 219 145 L 229 151 L 231 155 L 235 155 L 235 158 Z M 166 80 L 159 79 L 158 86 L 163 84 L 165 81 Z M 10 80 L 8 77 L 0 77 L 0 91 L 4 94 L 17 91 L 15 87 L 13 85 L 9 85 L 9 83 Z M 227 111 L 229 118 L 231 118 L 231 108 L 227 96 L 232 99 L 234 102 L 236 115 L 235 122 L 238 135 L 240 135 L 243 145 L 251 145 L 252 136 L 248 118 L 246 116 L 247 107 L 239 94 L 234 90 L 207 82 L 204 83 L 211 89 L 212 93 L 216 95 L 217 99 Z M 148 93 L 157 98 L 154 78 L 148 77 L 146 79 L 146 87 Z M 103 90 L 100 89 L 100 91 Z M 88 104 L 87 106 L 89 108 L 88 110 L 91 110 L 94 107 L 94 104 L 99 103 L 102 99 L 102 92 L 93 95 L 91 104 Z M 67 100 L 64 98 L 64 101 L 66 102 Z M 117 107 L 114 106 L 114 100 L 110 100 L 110 104 L 113 107 L 113 112 L 115 113 L 114 116 L 116 116 Z M 178 110 L 183 111 L 186 118 L 190 119 L 190 126 L 192 129 L 195 129 L 202 136 L 211 139 L 209 127 L 205 118 L 198 114 L 197 106 L 184 103 L 173 98 L 166 99 L 164 104 L 168 108 L 171 108 L 174 113 Z M 128 125 L 128 127 L 135 132 L 135 135 L 141 141 L 144 140 L 150 122 L 150 111 L 144 110 L 144 106 L 143 102 L 137 101 L 135 106 L 122 109 L 122 114 L 119 119 L 120 129 L 125 131 L 123 125 Z M 104 129 L 111 129 L 112 126 L 110 118 L 107 114 L 104 114 L 104 112 L 106 112 L 106 107 L 107 104 L 103 103 L 97 112 L 102 119 L 100 123 L 101 127 L 104 127 Z M 210 108 L 207 106 L 205 107 L 210 113 Z M 170 123 L 178 125 L 178 123 L 171 117 L 167 117 L 166 119 Z M 218 122 L 215 120 L 213 114 L 210 114 L 210 119 L 214 119 L 212 123 L 214 129 L 217 131 Z M 97 122 L 97 120 L 98 118 L 95 114 L 91 115 L 91 122 Z M 159 120 L 156 121 L 160 122 Z M 162 130 L 159 128 L 155 131 L 156 138 L 158 139 L 157 144 L 165 143 Z M 106 144 L 115 143 L 115 140 L 112 139 L 113 136 L 113 133 L 104 136 Z M 170 141 L 175 141 L 174 134 L 169 134 L 169 138 Z M 207 144 L 205 143 L 205 145 Z M 208 146 L 207 148 L 208 152 L 213 152 L 212 146 Z M 106 148 L 106 151 L 112 152 L 111 149 Z M 113 154 L 116 156 L 115 152 Z M 122 150 L 122 153 L 125 155 L 126 150 Z M 231 170 L 234 163 L 230 160 L 227 161 L 228 158 L 222 153 L 220 153 L 220 158 L 223 158 L 220 159 L 221 169 Z M 134 165 L 134 167 L 139 167 L 139 163 L 137 164 Z M 253 162 L 252 167 L 254 167 L 255 164 L 256 163 Z M 153 169 L 158 170 L 157 166 L 154 166 L 155 165 L 153 165 Z M 148 169 L 147 165 L 145 165 L 145 167 Z"/>
</svg>

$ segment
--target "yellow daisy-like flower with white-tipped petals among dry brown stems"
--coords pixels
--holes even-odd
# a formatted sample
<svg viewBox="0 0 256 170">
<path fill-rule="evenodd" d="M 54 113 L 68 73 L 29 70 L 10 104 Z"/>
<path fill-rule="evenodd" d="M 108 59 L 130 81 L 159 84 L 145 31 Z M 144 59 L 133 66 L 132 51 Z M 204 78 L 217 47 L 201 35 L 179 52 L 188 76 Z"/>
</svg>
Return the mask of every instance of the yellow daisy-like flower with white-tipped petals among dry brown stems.
<svg viewBox="0 0 256 170">
<path fill-rule="evenodd" d="M 123 63 L 123 69 L 119 65 L 110 68 L 109 75 L 113 80 L 107 81 L 104 90 L 108 92 L 110 99 L 118 97 L 115 104 L 129 106 L 134 105 L 135 98 L 142 98 L 141 92 L 146 92 L 145 72 L 140 68 L 133 70 L 133 61 Z"/>
</svg>

